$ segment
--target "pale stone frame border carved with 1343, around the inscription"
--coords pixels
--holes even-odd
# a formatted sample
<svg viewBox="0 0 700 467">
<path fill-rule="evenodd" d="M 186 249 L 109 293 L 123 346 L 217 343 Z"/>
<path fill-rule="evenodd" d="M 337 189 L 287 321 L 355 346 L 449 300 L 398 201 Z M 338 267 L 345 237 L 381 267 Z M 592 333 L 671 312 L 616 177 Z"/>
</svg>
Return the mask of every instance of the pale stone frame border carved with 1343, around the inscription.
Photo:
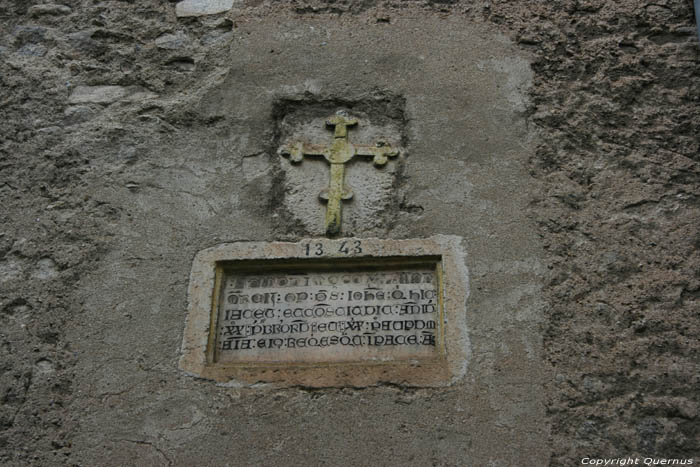
<svg viewBox="0 0 700 467">
<path fill-rule="evenodd" d="M 362 252 L 341 253 L 342 242 L 359 241 Z M 324 253 L 309 256 L 307 245 L 322 245 Z M 344 363 L 256 364 L 212 363 L 210 350 L 220 287 L 222 263 L 302 261 L 313 258 L 328 264 L 348 258 L 370 264 L 387 261 L 435 261 L 442 301 L 440 323 L 442 352 L 428 360 Z M 377 384 L 401 386 L 445 386 L 466 372 L 470 356 L 466 300 L 469 276 L 462 238 L 437 235 L 425 239 L 382 240 L 376 238 L 311 238 L 289 242 L 235 242 L 200 251 L 194 258 L 188 288 L 188 309 L 182 340 L 180 369 L 199 378 L 234 386 L 268 383 L 276 387 L 365 387 Z"/>
</svg>

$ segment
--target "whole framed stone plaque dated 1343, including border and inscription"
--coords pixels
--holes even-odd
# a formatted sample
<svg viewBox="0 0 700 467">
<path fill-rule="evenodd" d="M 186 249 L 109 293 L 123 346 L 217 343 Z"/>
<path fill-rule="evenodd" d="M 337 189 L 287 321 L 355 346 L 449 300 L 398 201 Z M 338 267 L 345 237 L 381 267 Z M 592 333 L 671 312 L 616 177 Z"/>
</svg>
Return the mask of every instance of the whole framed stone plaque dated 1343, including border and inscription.
<svg viewBox="0 0 700 467">
<path fill-rule="evenodd" d="M 467 296 L 459 237 L 219 245 L 192 265 L 180 368 L 236 386 L 451 384 Z"/>
</svg>

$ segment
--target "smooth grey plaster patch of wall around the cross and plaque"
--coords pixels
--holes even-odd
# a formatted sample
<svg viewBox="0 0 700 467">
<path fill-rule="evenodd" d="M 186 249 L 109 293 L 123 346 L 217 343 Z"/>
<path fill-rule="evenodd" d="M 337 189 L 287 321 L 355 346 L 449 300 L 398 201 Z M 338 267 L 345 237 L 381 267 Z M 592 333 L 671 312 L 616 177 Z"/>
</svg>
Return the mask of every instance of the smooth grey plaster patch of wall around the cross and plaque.
<svg viewBox="0 0 700 467">
<path fill-rule="evenodd" d="M 84 356 L 75 384 L 86 395 L 71 403 L 80 414 L 76 458 L 114 465 L 161 453 L 177 465 L 513 465 L 527 453 L 545 462 L 537 298 L 543 266 L 524 216 L 523 193 L 532 183 L 523 163 L 532 146 L 519 108 L 531 79 L 527 57 L 485 28 L 412 15 L 390 26 L 269 15 L 233 34 L 216 58 L 203 60 L 212 70 L 199 87 L 139 102 L 123 117 L 129 124 L 165 99 L 197 120 L 149 132 L 138 161 L 120 167 L 113 182 L 95 177 L 86 188 L 128 216 L 113 223 L 118 240 L 76 291 L 84 312 L 69 339 Z M 348 209 L 347 234 L 465 238 L 474 271 L 462 310 L 474 334 L 466 377 L 446 389 L 275 391 L 181 373 L 194 254 L 220 242 L 299 240 L 318 235 L 307 224 L 322 225 L 325 208 L 315 191 L 308 196 L 316 209 L 303 223 L 284 204 L 287 192 L 306 189 L 303 175 L 285 170 L 303 174 L 314 162 L 283 168 L 289 162 L 277 154 L 275 106 L 286 100 L 362 112 L 392 99 L 402 107 L 394 113 L 406 150 L 392 163 L 401 173 L 389 172 L 391 205 L 367 224 L 351 223 Z M 133 144 L 129 133 L 118 144 Z M 114 144 L 107 146 L 96 150 Z M 348 179 L 361 170 L 376 169 L 351 165 Z M 357 188 L 355 203 L 373 194 Z"/>
</svg>

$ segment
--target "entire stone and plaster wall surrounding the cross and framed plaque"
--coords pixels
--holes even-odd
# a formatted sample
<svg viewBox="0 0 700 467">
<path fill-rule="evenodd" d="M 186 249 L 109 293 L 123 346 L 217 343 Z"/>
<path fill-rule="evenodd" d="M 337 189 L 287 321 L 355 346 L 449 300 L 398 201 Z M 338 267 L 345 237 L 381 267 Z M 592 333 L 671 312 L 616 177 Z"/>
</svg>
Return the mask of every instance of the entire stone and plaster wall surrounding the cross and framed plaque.
<svg viewBox="0 0 700 467">
<path fill-rule="evenodd" d="M 690 0 L 0 3 L 0 463 L 700 462 Z M 461 237 L 453 384 L 252 387 L 178 367 L 192 261 Z M 303 173 L 302 173 L 303 172 Z M 366 195 L 366 196 L 363 196 Z"/>
</svg>

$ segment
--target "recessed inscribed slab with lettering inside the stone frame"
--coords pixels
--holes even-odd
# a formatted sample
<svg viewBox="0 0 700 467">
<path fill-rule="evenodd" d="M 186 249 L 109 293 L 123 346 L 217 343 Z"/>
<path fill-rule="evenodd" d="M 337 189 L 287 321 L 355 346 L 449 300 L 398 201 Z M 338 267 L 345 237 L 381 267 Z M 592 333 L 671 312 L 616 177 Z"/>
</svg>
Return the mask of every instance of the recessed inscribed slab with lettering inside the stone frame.
<svg viewBox="0 0 700 467">
<path fill-rule="evenodd" d="M 434 265 L 225 273 L 214 360 L 425 359 L 439 352 L 440 315 Z"/>
</svg>

